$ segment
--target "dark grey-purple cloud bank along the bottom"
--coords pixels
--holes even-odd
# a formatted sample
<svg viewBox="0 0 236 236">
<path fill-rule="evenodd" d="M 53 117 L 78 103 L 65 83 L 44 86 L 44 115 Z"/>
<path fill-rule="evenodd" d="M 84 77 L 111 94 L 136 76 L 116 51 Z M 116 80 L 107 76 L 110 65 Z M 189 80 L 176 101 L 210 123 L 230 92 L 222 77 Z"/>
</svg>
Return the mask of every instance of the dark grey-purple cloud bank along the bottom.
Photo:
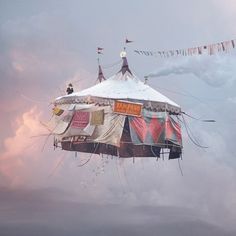
<svg viewBox="0 0 236 236">
<path fill-rule="evenodd" d="M 86 204 L 58 189 L 0 188 L 2 235 L 216 235 L 235 232 L 186 207 Z"/>
</svg>

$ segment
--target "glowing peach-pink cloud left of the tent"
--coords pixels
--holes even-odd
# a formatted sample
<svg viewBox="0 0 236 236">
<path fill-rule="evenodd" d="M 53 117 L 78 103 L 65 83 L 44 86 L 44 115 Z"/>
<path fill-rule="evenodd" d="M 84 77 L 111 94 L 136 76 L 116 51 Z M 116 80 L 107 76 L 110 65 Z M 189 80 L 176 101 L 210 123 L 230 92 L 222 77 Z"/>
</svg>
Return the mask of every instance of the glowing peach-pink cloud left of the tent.
<svg viewBox="0 0 236 236">
<path fill-rule="evenodd" d="M 37 107 L 32 107 L 12 122 L 14 134 L 5 138 L 4 150 L 0 153 L 0 172 L 10 183 L 21 182 L 19 170 L 24 173 L 29 168 L 29 159 L 32 161 L 38 158 L 40 145 L 32 137 L 47 133 L 40 124 L 41 115 Z"/>
</svg>

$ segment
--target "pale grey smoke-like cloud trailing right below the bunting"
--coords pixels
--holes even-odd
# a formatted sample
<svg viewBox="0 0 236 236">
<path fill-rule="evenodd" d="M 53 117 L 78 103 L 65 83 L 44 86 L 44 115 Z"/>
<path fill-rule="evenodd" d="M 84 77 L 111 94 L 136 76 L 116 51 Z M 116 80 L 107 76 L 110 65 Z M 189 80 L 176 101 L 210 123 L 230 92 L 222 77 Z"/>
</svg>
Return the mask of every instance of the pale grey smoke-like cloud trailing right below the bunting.
<svg viewBox="0 0 236 236">
<path fill-rule="evenodd" d="M 233 55 L 192 56 L 172 59 L 149 77 L 171 74 L 192 74 L 213 87 L 232 85 L 236 81 L 236 60 Z"/>
</svg>

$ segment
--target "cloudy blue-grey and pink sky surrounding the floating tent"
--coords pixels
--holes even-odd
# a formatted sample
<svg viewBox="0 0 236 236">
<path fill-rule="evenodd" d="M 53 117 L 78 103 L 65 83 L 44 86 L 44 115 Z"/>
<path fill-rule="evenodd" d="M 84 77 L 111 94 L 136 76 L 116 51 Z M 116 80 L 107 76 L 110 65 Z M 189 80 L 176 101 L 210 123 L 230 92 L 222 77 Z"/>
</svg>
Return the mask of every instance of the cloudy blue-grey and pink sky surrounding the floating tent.
<svg viewBox="0 0 236 236">
<path fill-rule="evenodd" d="M 233 0 L 0 0 L 1 235 L 235 235 L 236 53 L 161 59 L 134 53 L 235 39 Z M 188 119 L 176 160 L 102 159 L 53 150 L 40 122 L 68 82 L 94 85 L 120 60 L 202 123 Z M 106 77 L 120 65 L 104 69 Z M 181 71 L 181 73 L 179 72 Z M 35 137 L 39 136 L 40 137 Z M 32 233 L 33 232 L 33 233 Z M 37 232 L 37 233 L 35 233 Z"/>
</svg>

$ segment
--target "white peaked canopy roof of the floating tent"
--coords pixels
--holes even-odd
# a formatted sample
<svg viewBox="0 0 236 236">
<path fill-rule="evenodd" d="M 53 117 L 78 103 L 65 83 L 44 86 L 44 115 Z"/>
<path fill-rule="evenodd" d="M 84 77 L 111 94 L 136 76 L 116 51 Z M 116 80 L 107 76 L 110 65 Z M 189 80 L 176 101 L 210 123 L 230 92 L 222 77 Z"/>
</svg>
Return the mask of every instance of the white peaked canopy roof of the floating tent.
<svg viewBox="0 0 236 236">
<path fill-rule="evenodd" d="M 122 68 L 117 74 L 90 88 L 59 97 L 56 99 L 56 103 L 67 103 L 69 101 L 76 103 L 76 101 L 85 101 L 86 98 L 129 100 L 146 104 L 149 102 L 151 105 L 159 104 L 162 108 L 168 108 L 175 113 L 180 112 L 180 106 L 178 104 L 154 90 L 149 85 L 144 84 L 130 72 L 126 57 L 123 58 Z"/>
</svg>

